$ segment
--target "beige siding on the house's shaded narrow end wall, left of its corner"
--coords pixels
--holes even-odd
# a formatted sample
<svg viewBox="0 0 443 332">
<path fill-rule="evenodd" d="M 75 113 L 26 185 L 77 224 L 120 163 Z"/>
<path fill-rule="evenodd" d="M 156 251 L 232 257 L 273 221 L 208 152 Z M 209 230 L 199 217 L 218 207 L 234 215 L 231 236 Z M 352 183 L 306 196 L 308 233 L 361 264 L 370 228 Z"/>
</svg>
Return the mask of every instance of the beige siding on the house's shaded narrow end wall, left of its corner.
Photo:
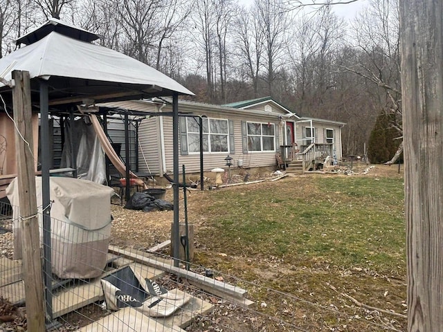
<svg viewBox="0 0 443 332">
<path fill-rule="evenodd" d="M 161 172 L 161 140 L 160 117 L 145 119 L 138 127 L 138 169 L 140 172 L 160 174 Z M 143 154 L 146 158 L 143 158 Z"/>
</svg>

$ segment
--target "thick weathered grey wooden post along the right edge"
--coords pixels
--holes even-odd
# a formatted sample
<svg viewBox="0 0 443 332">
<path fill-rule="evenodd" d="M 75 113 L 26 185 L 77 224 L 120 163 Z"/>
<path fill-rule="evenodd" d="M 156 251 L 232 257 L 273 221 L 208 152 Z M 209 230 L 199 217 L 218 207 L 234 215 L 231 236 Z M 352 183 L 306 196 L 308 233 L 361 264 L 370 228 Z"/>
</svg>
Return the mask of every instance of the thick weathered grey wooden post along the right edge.
<svg viewBox="0 0 443 332">
<path fill-rule="evenodd" d="M 408 331 L 443 326 L 443 3 L 401 0 Z"/>
</svg>

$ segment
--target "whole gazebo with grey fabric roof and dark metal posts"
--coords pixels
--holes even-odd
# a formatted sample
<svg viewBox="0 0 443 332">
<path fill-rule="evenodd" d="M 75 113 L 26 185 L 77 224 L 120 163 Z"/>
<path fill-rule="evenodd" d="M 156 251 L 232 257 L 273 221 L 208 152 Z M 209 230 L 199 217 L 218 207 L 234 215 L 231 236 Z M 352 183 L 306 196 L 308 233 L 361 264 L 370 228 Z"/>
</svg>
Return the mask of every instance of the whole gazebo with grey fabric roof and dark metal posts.
<svg viewBox="0 0 443 332">
<path fill-rule="evenodd" d="M 30 97 L 33 107 L 39 109 L 42 119 L 48 118 L 49 109 L 73 114 L 80 104 L 152 98 L 172 95 L 174 133 L 174 221 L 172 241 L 173 257 L 179 257 L 179 110 L 178 96 L 193 95 L 191 91 L 136 59 L 109 48 L 91 44 L 100 36 L 49 19 L 45 24 L 17 39 L 19 48 L 0 59 L 0 95 L 4 107 L 12 110 L 12 71 L 27 71 L 30 75 Z M 4 108 L 3 102 L 0 109 Z M 6 111 L 6 110 L 3 110 Z M 13 110 L 12 110 L 13 111 Z M 73 118 L 73 117 L 71 117 Z M 48 146 L 48 122 L 42 121 L 42 147 Z M 49 151 L 42 149 L 42 203 L 50 205 Z M 127 177 L 129 174 L 127 173 Z M 129 181 L 127 181 L 129 190 Z M 44 234 L 51 232 L 49 209 L 43 215 Z M 44 236 L 44 275 L 46 302 L 51 301 L 51 240 Z M 48 259 L 49 257 L 49 264 Z M 178 260 L 176 260 L 178 265 Z M 51 306 L 46 310 L 51 311 Z M 51 312 L 48 313 L 51 316 Z"/>
</svg>

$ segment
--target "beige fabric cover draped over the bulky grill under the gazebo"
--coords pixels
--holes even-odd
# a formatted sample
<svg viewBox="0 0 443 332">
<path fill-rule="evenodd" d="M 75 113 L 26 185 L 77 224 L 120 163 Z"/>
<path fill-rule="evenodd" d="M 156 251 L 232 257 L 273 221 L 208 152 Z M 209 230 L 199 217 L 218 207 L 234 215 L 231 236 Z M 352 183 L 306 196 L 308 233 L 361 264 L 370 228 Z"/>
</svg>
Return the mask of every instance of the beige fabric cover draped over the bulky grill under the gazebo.
<svg viewBox="0 0 443 332">
<path fill-rule="evenodd" d="M 42 178 L 35 178 L 42 242 Z M 107 262 L 112 188 L 77 178 L 51 177 L 53 273 L 60 278 L 98 277 Z M 17 178 L 6 189 L 19 207 Z M 14 209 L 14 259 L 21 259 L 19 208 Z"/>
</svg>

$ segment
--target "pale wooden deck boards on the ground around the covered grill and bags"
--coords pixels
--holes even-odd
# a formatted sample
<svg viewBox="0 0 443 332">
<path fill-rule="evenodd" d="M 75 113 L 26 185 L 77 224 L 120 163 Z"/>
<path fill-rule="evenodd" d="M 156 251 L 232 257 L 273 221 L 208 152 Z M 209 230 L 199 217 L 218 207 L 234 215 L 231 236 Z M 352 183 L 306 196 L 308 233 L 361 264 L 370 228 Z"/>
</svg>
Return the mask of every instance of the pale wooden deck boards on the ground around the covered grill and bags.
<svg viewBox="0 0 443 332">
<path fill-rule="evenodd" d="M 55 290 L 53 295 L 53 317 L 57 318 L 66 313 L 71 313 L 79 308 L 104 300 L 100 279 L 116 272 L 125 266 L 131 266 L 136 273 L 149 279 L 158 279 L 165 274 L 164 270 L 137 263 L 132 259 L 108 255 L 112 267 L 96 279 L 88 282 L 68 282 Z M 165 264 L 165 260 L 161 260 Z M 170 262 L 171 265 L 172 261 Z M 56 283 L 56 282 L 54 282 Z M 177 290 L 177 293 L 183 293 Z M 25 287 L 21 279 L 21 261 L 0 259 L 0 296 L 8 299 L 12 304 L 24 304 Z M 212 304 L 197 297 L 178 311 L 165 318 L 152 318 L 136 311 L 134 308 L 124 308 L 102 319 L 84 326 L 82 332 L 101 331 L 147 331 L 147 332 L 183 332 L 182 328 L 188 326 L 197 315 L 204 315 L 211 310 Z"/>
</svg>

